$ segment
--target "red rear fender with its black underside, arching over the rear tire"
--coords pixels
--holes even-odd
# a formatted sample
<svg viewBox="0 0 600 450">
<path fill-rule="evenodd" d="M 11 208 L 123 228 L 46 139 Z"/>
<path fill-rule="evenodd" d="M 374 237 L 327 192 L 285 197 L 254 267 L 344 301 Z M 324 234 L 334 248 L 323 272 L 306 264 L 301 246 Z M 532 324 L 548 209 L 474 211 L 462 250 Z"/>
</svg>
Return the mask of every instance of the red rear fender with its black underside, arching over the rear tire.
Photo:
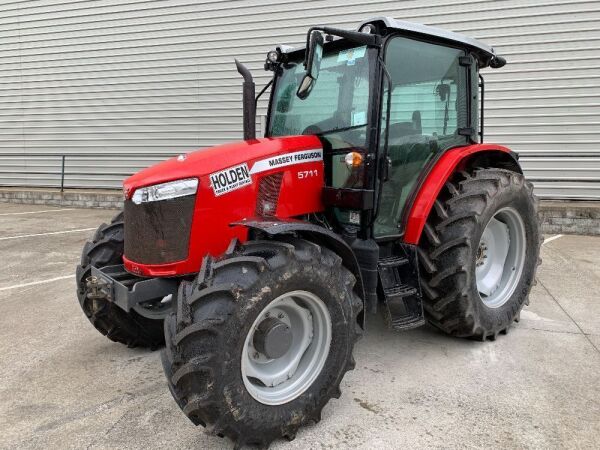
<svg viewBox="0 0 600 450">
<path fill-rule="evenodd" d="M 427 217 L 442 187 L 458 170 L 499 167 L 523 173 L 517 154 L 496 144 L 474 144 L 445 152 L 435 163 L 414 197 L 406 217 L 404 242 L 418 245 Z"/>
</svg>

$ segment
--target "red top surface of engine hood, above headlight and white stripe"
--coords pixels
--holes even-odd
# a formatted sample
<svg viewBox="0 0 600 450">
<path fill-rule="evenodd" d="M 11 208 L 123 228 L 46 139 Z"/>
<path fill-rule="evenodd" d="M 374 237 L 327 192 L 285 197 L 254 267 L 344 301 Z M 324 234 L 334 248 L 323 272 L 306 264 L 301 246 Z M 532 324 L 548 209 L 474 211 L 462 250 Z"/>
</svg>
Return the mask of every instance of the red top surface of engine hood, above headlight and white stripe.
<svg viewBox="0 0 600 450">
<path fill-rule="evenodd" d="M 264 138 L 218 145 L 182 154 L 141 170 L 123 182 L 123 191 L 129 199 L 136 189 L 144 186 L 182 178 L 200 178 L 238 164 L 251 165 L 265 157 L 321 148 L 321 141 L 316 136 Z"/>
</svg>

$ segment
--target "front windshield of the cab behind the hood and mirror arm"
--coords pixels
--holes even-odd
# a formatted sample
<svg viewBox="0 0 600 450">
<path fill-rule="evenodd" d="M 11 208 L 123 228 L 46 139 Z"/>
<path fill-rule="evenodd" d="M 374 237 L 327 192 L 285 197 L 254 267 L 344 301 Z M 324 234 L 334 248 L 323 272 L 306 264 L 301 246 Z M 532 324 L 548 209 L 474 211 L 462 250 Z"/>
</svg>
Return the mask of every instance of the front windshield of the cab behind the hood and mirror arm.
<svg viewBox="0 0 600 450">
<path fill-rule="evenodd" d="M 370 52 L 339 41 L 325 47 L 319 78 L 310 96 L 296 96 L 304 76 L 302 61 L 283 67 L 273 93 L 271 136 L 323 134 L 343 144 L 365 146 L 369 111 Z M 333 136 L 332 136 L 333 135 Z"/>
</svg>

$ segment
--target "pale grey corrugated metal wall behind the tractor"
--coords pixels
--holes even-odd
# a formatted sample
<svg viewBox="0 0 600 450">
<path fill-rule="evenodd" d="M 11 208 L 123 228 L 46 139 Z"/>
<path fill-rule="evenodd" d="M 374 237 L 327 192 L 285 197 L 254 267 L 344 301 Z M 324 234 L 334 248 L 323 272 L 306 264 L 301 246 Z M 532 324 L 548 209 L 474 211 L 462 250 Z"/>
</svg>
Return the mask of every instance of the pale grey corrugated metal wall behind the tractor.
<svg viewBox="0 0 600 450">
<path fill-rule="evenodd" d="M 83 153 L 67 158 L 67 186 L 116 187 L 166 155 L 238 139 L 233 57 L 260 85 L 275 44 L 375 15 L 494 45 L 509 64 L 486 73 L 486 140 L 521 153 L 538 194 L 600 198 L 599 0 L 3 1 L 0 154 L 19 156 L 0 156 L 0 184 L 55 184 L 36 172 L 60 159 L 31 155 Z"/>
</svg>

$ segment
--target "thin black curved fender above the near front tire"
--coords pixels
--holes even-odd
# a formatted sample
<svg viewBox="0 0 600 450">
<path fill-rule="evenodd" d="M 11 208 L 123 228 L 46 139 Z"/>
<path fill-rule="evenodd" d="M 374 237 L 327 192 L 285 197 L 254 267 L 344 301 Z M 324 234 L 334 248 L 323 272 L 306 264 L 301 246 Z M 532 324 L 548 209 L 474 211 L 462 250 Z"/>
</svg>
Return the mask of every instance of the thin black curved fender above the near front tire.
<svg viewBox="0 0 600 450">
<path fill-rule="evenodd" d="M 315 225 L 309 222 L 305 222 L 297 219 L 263 219 L 263 218 L 252 218 L 245 219 L 241 222 L 231 224 L 232 226 L 246 227 L 250 231 L 249 238 L 251 239 L 253 234 L 265 233 L 269 236 L 277 236 L 282 234 L 296 234 L 306 240 L 314 242 L 326 247 L 331 251 L 335 252 L 340 258 L 344 266 L 350 270 L 352 275 L 356 278 L 356 285 L 354 286 L 355 292 L 365 302 L 365 288 L 363 285 L 363 279 L 360 271 L 360 266 L 356 255 L 352 251 L 352 248 L 336 233 L 323 228 L 319 225 Z M 364 308 L 361 317 L 361 326 L 364 328 Z"/>
</svg>

